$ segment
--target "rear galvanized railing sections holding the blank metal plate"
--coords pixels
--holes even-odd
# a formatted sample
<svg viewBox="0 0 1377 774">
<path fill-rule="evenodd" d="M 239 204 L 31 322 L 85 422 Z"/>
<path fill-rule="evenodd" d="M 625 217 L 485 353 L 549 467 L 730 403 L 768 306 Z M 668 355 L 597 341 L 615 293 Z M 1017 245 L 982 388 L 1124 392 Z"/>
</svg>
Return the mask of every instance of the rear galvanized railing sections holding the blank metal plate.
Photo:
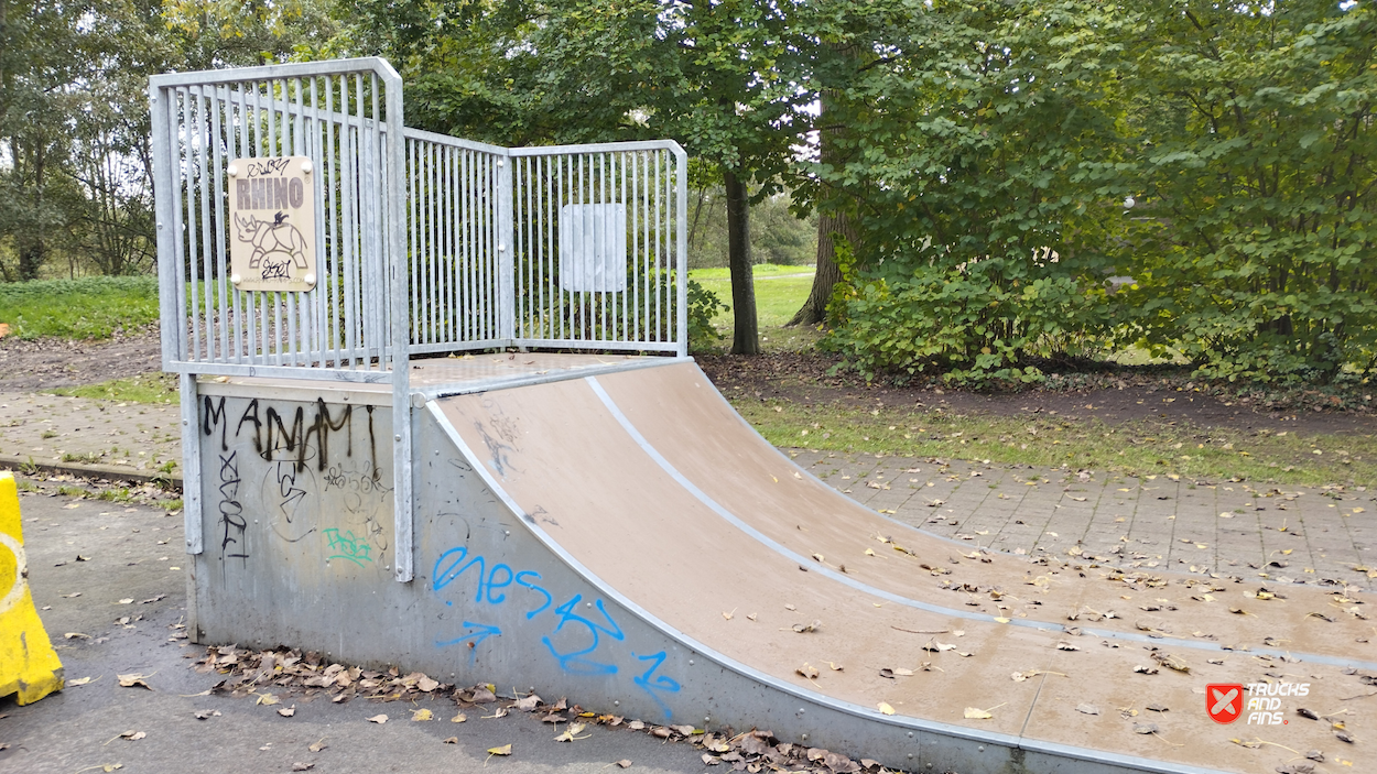
<svg viewBox="0 0 1377 774">
<path fill-rule="evenodd" d="M 687 354 L 669 140 L 505 149 L 406 129 L 412 353 Z"/>
</svg>

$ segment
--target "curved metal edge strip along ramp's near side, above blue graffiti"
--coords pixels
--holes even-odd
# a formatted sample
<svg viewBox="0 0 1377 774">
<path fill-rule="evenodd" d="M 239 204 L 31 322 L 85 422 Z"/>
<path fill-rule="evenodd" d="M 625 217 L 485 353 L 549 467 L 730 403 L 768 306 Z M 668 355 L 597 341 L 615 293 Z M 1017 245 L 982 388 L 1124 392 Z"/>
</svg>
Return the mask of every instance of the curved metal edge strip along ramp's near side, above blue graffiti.
<svg viewBox="0 0 1377 774">
<path fill-rule="evenodd" d="M 884 715 L 879 709 L 870 709 L 868 707 L 861 707 L 858 704 L 851 704 L 848 701 L 841 701 L 817 691 L 801 689 L 799 686 L 786 683 L 778 678 L 767 675 L 766 672 L 761 672 L 753 667 L 742 664 L 734 658 L 728 658 L 726 654 L 712 647 L 708 647 L 702 642 L 698 642 L 697 639 L 693 639 L 688 635 L 680 632 L 679 629 L 662 621 L 657 616 L 653 616 L 649 610 L 646 610 L 636 602 L 632 602 L 627 595 L 614 589 L 599 576 L 596 576 L 592 570 L 584 566 L 582 562 L 580 562 L 571 554 L 569 554 L 569 551 L 566 551 L 563 545 L 560 545 L 555 538 L 549 536 L 549 533 L 541 529 L 540 525 L 536 523 L 536 519 L 532 518 L 530 514 L 527 514 L 521 505 L 518 505 L 516 500 L 512 499 L 512 496 L 508 494 L 505 489 L 503 489 L 503 486 L 497 482 L 497 479 L 487 471 L 487 466 L 485 466 L 482 460 L 474 453 L 474 450 L 470 449 L 468 443 L 464 442 L 464 438 L 449 421 L 449 417 L 445 416 L 445 412 L 443 409 L 439 408 L 439 404 L 435 401 L 430 401 L 427 402 L 425 408 L 430 412 L 431 419 L 434 419 L 437 424 L 439 424 L 445 435 L 450 439 L 450 442 L 454 443 L 454 446 L 464 456 L 464 459 L 474 467 L 478 475 L 482 477 L 483 483 L 487 485 L 487 488 L 493 492 L 493 494 L 497 496 L 497 499 L 501 500 L 501 503 L 507 505 L 507 508 L 511 510 L 512 514 L 516 514 L 519 516 L 518 521 L 522 523 L 522 526 L 530 530 L 530 533 L 541 544 L 544 544 L 547 550 L 549 550 L 566 566 L 569 566 L 570 570 L 582 577 L 589 585 L 596 588 L 599 594 L 607 596 L 609 599 L 625 607 L 631 614 L 639 617 L 650 627 L 660 629 L 660 632 L 668 636 L 669 639 L 680 642 L 693 651 L 704 656 L 705 658 L 709 658 L 723 669 L 735 672 L 744 678 L 761 683 L 777 691 L 793 695 L 804 701 L 810 701 L 814 705 L 823 707 L 826 709 L 832 709 L 845 715 L 851 715 L 862 720 L 870 720 L 887 726 L 895 726 L 898 729 L 912 729 L 916 731 L 925 731 L 935 735 L 969 740 L 974 742 L 998 744 L 1013 749 L 1026 749 L 1047 755 L 1071 757 L 1075 760 L 1114 763 L 1118 766 L 1126 766 L 1151 774 L 1230 774 L 1217 768 L 1202 768 L 1190 764 L 1165 763 L 1132 755 L 1120 755 L 1114 752 L 1078 748 L 1058 742 L 1029 740 L 1027 737 L 1015 734 L 979 731 L 965 726 L 942 723 L 940 720 L 925 720 L 913 716 Z"/>
</svg>

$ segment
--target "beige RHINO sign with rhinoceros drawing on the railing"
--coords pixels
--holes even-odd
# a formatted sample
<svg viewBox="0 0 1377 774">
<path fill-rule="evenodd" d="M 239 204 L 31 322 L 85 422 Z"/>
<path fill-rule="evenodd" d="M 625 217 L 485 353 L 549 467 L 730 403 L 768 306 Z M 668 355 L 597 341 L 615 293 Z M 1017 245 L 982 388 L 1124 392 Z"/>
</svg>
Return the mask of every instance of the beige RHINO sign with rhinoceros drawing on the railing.
<svg viewBox="0 0 1377 774">
<path fill-rule="evenodd" d="M 230 175 L 230 282 L 240 291 L 315 286 L 315 180 L 306 156 L 235 158 Z"/>
</svg>

